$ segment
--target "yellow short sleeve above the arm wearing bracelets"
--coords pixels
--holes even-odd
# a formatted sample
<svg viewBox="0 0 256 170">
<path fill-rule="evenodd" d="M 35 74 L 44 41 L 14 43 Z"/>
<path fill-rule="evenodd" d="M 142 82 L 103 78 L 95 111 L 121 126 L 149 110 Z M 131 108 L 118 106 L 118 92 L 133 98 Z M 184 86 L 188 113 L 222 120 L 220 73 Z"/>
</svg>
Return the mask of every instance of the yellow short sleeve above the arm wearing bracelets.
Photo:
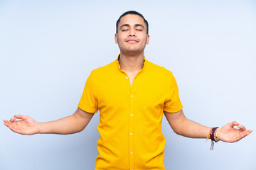
<svg viewBox="0 0 256 170">
<path fill-rule="evenodd" d="M 175 113 L 181 111 L 183 108 L 181 100 L 178 96 L 178 86 L 174 75 L 171 73 L 170 86 L 167 90 L 166 101 L 164 102 L 164 111 L 169 113 Z"/>
</svg>

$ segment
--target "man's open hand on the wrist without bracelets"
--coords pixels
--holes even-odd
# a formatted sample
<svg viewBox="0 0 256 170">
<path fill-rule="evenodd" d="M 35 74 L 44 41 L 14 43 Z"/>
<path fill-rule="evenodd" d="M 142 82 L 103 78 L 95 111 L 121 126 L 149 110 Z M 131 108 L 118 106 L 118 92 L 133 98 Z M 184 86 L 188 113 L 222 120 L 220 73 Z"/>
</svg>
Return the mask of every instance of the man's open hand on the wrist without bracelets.
<svg viewBox="0 0 256 170">
<path fill-rule="evenodd" d="M 39 124 L 28 115 L 14 115 L 14 118 L 11 118 L 10 121 L 4 120 L 4 125 L 22 135 L 33 135 L 40 131 Z"/>
</svg>

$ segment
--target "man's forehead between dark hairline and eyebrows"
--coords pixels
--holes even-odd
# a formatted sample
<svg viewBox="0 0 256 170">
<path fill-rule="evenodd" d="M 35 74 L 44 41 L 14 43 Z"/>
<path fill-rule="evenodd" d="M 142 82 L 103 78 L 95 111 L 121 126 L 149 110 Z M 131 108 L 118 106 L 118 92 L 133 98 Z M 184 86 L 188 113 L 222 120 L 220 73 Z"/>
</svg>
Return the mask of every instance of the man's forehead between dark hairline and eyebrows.
<svg viewBox="0 0 256 170">
<path fill-rule="evenodd" d="M 128 14 L 126 16 L 123 16 L 120 19 L 119 26 L 122 26 L 123 24 L 129 24 L 130 26 L 133 26 L 135 24 L 142 24 L 144 27 L 146 27 L 143 18 L 134 14 Z"/>
</svg>

